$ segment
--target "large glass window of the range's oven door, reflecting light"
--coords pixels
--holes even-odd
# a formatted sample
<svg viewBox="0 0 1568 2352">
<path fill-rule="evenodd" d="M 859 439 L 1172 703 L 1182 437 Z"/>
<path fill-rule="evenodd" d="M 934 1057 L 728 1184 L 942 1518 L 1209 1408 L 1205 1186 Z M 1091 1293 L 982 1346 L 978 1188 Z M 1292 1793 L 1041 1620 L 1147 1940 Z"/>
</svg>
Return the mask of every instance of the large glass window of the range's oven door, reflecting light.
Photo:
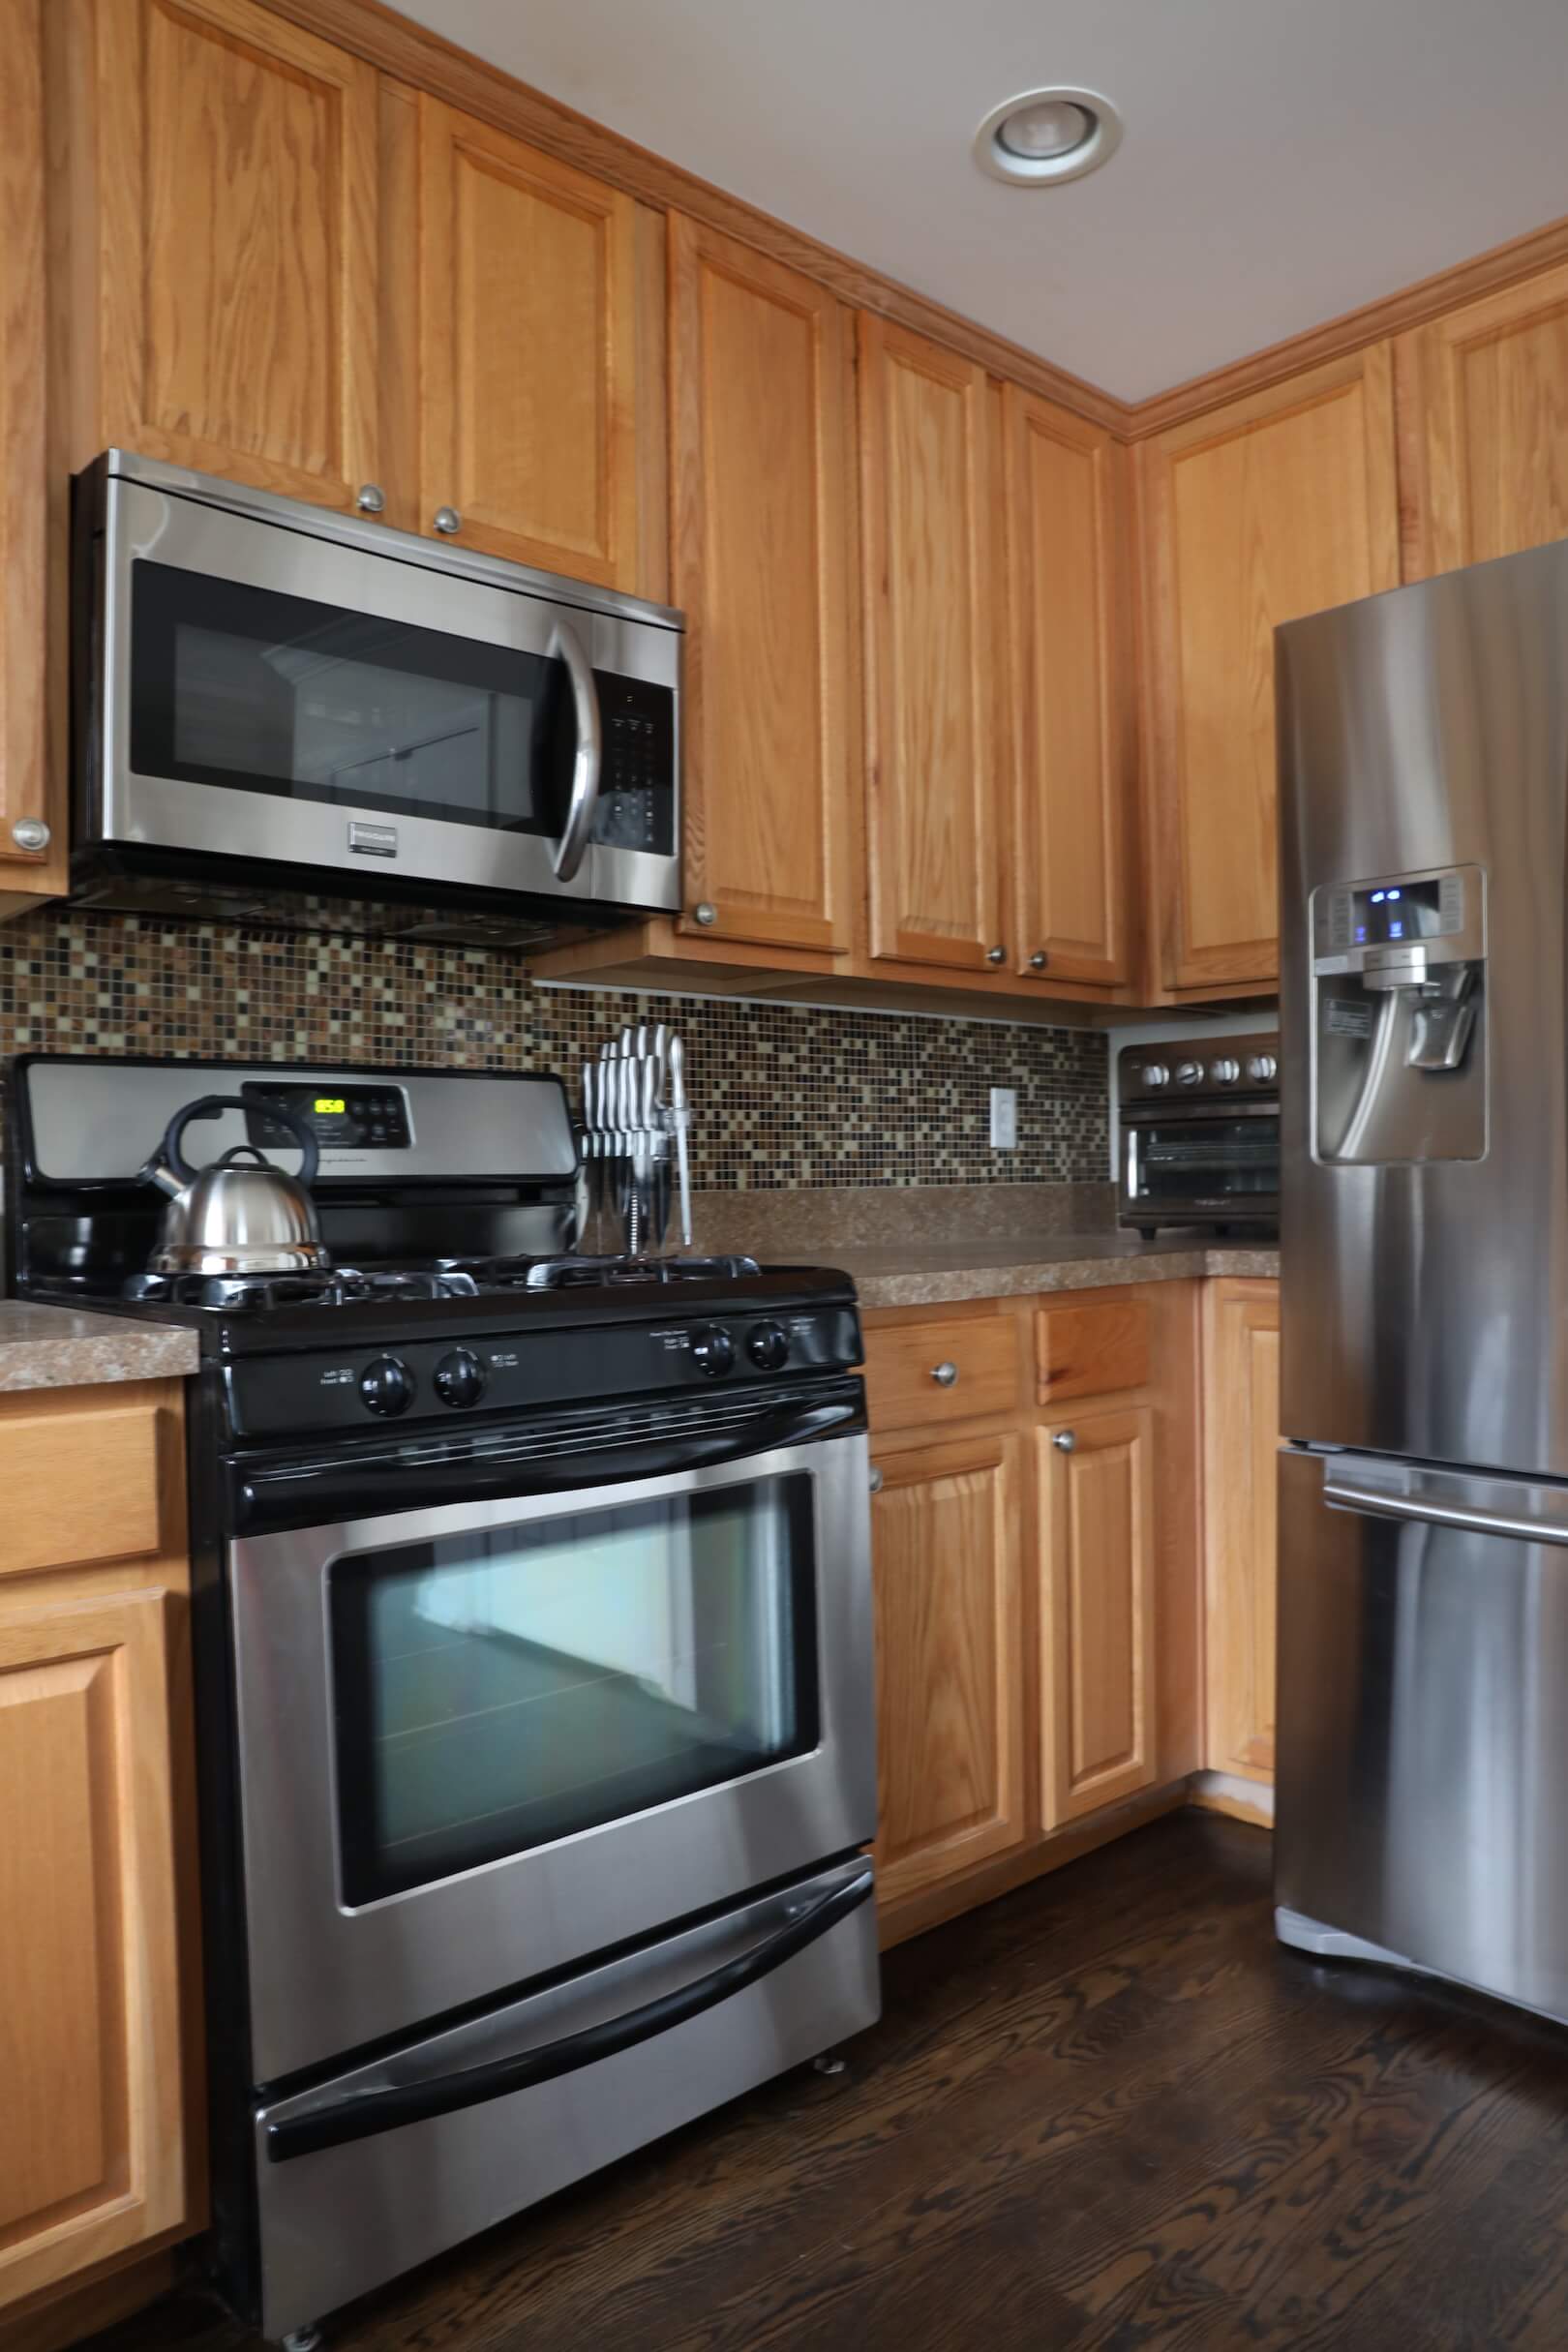
<svg viewBox="0 0 1568 2352">
<path fill-rule="evenodd" d="M 327 1590 L 350 1907 L 818 1743 L 806 1472 L 348 1552 Z"/>
</svg>

